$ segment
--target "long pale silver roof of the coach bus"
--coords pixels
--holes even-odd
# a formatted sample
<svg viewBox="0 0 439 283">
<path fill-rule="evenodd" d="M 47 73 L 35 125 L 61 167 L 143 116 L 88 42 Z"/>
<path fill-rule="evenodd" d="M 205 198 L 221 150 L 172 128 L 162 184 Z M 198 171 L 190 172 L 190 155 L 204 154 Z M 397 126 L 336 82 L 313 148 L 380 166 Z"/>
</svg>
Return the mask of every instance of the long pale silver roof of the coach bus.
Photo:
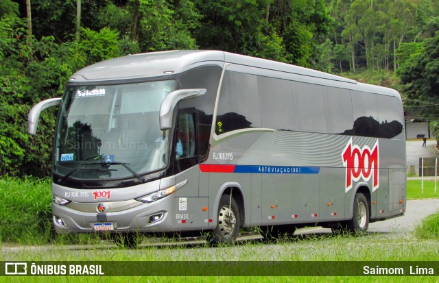
<svg viewBox="0 0 439 283">
<path fill-rule="evenodd" d="M 395 94 L 390 88 L 360 84 L 353 79 L 346 79 L 345 77 L 292 64 L 215 50 L 175 50 L 127 55 L 86 66 L 84 69 L 73 74 L 69 82 L 87 83 L 161 77 L 164 75 L 182 73 L 192 69 L 194 66 L 213 62 L 252 66 L 259 69 L 303 75 L 315 79 L 327 79 L 327 82 L 344 83 L 344 88 L 399 97 L 399 94 Z"/>
</svg>

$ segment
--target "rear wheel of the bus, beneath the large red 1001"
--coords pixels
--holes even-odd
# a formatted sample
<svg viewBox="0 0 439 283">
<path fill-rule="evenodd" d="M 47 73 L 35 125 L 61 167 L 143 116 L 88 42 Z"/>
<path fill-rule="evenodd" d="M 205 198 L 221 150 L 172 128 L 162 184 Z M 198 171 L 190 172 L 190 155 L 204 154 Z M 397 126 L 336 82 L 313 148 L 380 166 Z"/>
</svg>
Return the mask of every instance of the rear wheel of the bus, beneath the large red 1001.
<svg viewBox="0 0 439 283">
<path fill-rule="evenodd" d="M 362 193 L 357 193 L 353 204 L 353 217 L 346 222 L 348 232 L 361 234 L 368 230 L 369 205 L 368 199 Z"/>
</svg>

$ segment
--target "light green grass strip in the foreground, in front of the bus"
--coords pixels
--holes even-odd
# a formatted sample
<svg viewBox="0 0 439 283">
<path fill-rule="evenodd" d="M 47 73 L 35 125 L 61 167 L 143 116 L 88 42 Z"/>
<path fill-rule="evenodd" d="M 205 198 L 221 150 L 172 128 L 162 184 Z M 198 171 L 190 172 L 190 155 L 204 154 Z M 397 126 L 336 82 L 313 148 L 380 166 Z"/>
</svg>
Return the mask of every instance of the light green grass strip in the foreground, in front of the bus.
<svg viewBox="0 0 439 283">
<path fill-rule="evenodd" d="M 392 245 L 389 243 L 392 242 Z M 206 245 L 179 245 L 179 246 L 159 246 L 143 247 L 141 249 L 127 250 L 110 247 L 108 245 L 99 245 L 94 247 L 82 247 L 80 249 L 71 249 L 63 245 L 53 245 L 50 247 L 40 247 L 38 249 L 9 249 L 8 246 L 2 247 L 2 256 L 0 260 L 6 261 L 109 261 L 109 262 L 128 262 L 130 267 L 138 262 L 148 268 L 147 262 L 154 263 L 164 262 L 161 268 L 166 272 L 167 269 L 175 269 L 178 264 L 173 262 L 191 262 L 195 267 L 198 261 L 218 261 L 224 262 L 224 267 L 219 270 L 224 276 L 211 277 L 166 277 L 150 276 L 142 278 L 140 276 L 130 277 L 134 282 L 420 282 L 420 278 L 396 278 L 396 277 L 277 277 L 277 276 L 252 276 L 251 268 L 257 269 L 254 273 L 261 272 L 261 269 L 269 269 L 272 261 L 276 262 L 296 262 L 291 264 L 291 268 L 304 264 L 306 274 L 306 262 L 320 262 L 318 269 L 331 269 L 331 264 L 325 264 L 324 261 L 335 262 L 355 262 L 370 261 L 373 264 L 380 264 L 382 261 L 398 262 L 402 260 L 416 261 L 416 264 L 422 264 L 423 261 L 438 260 L 439 246 L 437 241 L 420 240 L 414 241 L 412 234 L 403 234 L 395 241 L 394 236 L 387 234 L 366 234 L 363 236 L 344 236 L 344 235 L 315 235 L 315 236 L 295 236 L 292 240 L 281 239 L 272 243 L 261 241 L 246 241 L 232 247 L 210 248 Z M 173 262 L 169 262 L 173 261 Z M 248 277 L 227 277 L 229 273 L 226 264 L 230 262 L 256 262 L 254 267 L 246 270 Z M 146 263 L 145 263 L 146 262 Z M 123 265 L 123 263 L 119 263 Z M 160 264 L 160 263 L 158 263 Z M 240 263 L 237 263 L 240 264 Z M 315 265 L 313 265 L 315 267 Z M 133 273 L 135 270 L 133 271 Z M 269 272 L 269 271 L 268 271 Z M 132 273 L 130 273 L 132 274 Z M 192 273 L 189 273 L 191 275 Z M 59 277 L 59 278 L 4 278 L 12 282 L 24 282 L 32 279 L 44 282 L 123 282 L 128 278 L 123 277 Z M 423 282 L 436 282 L 432 278 L 422 278 Z M 0 278 L 1 281 L 1 278 Z M 6 280 L 5 280 L 6 282 Z"/>
</svg>

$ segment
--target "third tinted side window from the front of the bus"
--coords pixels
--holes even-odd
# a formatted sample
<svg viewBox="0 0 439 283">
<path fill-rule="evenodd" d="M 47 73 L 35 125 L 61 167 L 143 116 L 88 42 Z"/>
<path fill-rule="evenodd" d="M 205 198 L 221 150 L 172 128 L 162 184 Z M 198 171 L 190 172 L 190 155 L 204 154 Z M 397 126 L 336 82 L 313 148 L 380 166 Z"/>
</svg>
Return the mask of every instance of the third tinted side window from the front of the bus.
<svg viewBox="0 0 439 283">
<path fill-rule="evenodd" d="M 295 82 L 293 95 L 296 130 L 300 132 L 326 133 L 323 87 L 316 84 Z"/>
</svg>

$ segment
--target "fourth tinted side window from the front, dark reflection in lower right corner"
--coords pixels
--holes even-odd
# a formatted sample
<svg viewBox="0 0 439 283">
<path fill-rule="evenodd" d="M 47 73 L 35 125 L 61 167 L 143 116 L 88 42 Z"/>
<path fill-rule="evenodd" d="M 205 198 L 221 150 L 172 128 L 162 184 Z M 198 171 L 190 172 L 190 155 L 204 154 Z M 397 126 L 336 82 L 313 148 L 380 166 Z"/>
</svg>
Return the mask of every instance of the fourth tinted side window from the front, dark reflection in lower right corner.
<svg viewBox="0 0 439 283">
<path fill-rule="evenodd" d="M 351 90 L 325 88 L 324 110 L 328 134 L 354 134 Z"/>
</svg>

